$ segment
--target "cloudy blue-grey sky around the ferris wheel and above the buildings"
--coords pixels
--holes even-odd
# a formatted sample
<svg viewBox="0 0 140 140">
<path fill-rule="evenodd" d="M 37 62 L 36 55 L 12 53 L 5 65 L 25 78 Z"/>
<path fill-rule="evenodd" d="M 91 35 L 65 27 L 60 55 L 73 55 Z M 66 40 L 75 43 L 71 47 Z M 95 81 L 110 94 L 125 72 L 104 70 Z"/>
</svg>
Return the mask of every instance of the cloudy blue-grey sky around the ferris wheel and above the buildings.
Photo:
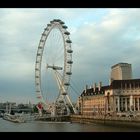
<svg viewBox="0 0 140 140">
<path fill-rule="evenodd" d="M 71 33 L 73 102 L 86 85 L 108 85 L 114 64 L 132 64 L 133 78 L 140 78 L 139 8 L 1 8 L 0 102 L 37 103 L 36 53 L 53 19 L 64 21 Z"/>
</svg>

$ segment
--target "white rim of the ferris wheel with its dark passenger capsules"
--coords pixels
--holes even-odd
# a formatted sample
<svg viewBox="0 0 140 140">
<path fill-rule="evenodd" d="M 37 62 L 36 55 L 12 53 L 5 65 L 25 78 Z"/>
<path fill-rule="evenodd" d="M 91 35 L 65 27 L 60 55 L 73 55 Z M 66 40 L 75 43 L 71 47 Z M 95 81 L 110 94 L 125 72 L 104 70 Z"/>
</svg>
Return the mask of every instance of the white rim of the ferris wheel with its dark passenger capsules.
<svg viewBox="0 0 140 140">
<path fill-rule="evenodd" d="M 41 89 L 41 63 L 43 57 L 43 51 L 45 47 L 46 40 L 51 33 L 51 31 L 57 28 L 62 34 L 63 43 L 64 43 L 64 70 L 63 70 L 63 84 L 68 90 L 70 86 L 70 78 L 72 75 L 72 49 L 71 49 L 71 40 L 70 40 L 70 33 L 67 31 L 67 26 L 62 20 L 54 19 L 47 24 L 47 27 L 44 29 L 41 39 L 39 41 L 38 50 L 36 54 L 36 63 L 35 63 L 35 86 L 36 86 L 36 95 L 40 101 L 45 102 L 42 95 Z M 69 59 L 68 59 L 69 58 Z"/>
</svg>

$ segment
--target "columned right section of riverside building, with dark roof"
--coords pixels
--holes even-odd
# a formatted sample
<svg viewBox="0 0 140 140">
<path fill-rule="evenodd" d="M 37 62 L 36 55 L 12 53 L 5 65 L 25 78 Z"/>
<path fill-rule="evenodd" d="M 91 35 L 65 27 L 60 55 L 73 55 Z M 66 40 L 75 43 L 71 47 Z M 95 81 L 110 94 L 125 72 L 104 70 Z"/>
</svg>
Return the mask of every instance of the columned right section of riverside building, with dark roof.
<svg viewBox="0 0 140 140">
<path fill-rule="evenodd" d="M 140 111 L 140 79 L 114 80 L 105 91 L 107 112 Z"/>
</svg>

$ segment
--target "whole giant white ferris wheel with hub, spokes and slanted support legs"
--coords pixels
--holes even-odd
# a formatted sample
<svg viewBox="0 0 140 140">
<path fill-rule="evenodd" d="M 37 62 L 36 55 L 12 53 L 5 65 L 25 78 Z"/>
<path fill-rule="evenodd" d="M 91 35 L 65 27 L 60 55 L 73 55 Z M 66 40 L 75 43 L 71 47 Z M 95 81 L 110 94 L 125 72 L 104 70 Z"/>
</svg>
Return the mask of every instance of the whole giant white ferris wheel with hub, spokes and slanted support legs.
<svg viewBox="0 0 140 140">
<path fill-rule="evenodd" d="M 72 41 L 67 28 L 63 21 L 54 19 L 44 29 L 36 55 L 35 86 L 39 103 L 42 104 L 45 110 L 49 109 L 43 94 L 48 92 L 46 88 L 48 84 L 45 84 L 44 81 L 49 80 L 50 74 L 50 77 L 55 79 L 55 83 L 50 80 L 50 88 L 55 89 L 55 85 L 57 85 L 58 92 L 55 99 L 55 110 L 59 108 L 57 110 L 60 112 L 62 108 L 67 111 L 71 108 L 76 113 L 68 95 L 72 75 L 73 50 L 71 49 Z"/>
</svg>

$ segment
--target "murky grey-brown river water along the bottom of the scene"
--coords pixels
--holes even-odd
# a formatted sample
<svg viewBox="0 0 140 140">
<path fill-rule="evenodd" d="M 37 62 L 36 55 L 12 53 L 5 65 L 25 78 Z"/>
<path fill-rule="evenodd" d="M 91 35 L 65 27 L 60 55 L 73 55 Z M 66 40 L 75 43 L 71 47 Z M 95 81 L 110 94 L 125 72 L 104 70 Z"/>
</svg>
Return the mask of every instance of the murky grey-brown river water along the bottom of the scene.
<svg viewBox="0 0 140 140">
<path fill-rule="evenodd" d="M 13 123 L 0 118 L 0 132 L 140 132 L 140 128 L 81 124 L 68 122 L 30 121 Z"/>
</svg>

